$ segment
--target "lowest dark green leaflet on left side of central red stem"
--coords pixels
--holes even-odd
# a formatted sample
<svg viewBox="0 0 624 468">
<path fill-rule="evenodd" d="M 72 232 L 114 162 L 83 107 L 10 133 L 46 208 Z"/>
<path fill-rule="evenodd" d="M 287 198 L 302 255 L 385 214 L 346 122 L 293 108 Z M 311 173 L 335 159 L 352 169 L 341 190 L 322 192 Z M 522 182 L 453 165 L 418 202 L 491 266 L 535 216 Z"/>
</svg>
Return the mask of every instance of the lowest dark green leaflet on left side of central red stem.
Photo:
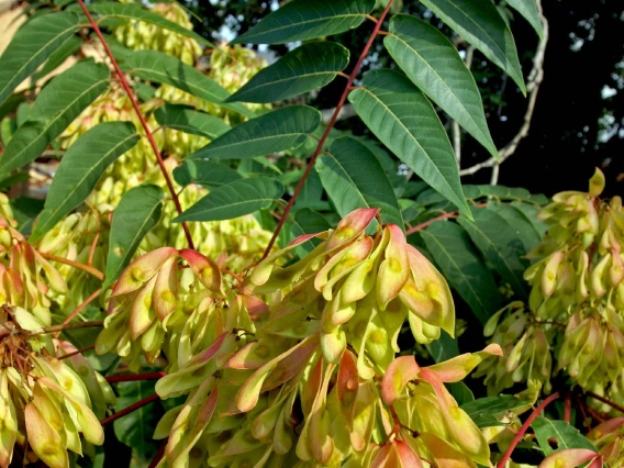
<svg viewBox="0 0 624 468">
<path fill-rule="evenodd" d="M 214 189 L 172 222 L 232 220 L 269 208 L 282 194 L 283 186 L 267 177 L 241 179 Z"/>
</svg>

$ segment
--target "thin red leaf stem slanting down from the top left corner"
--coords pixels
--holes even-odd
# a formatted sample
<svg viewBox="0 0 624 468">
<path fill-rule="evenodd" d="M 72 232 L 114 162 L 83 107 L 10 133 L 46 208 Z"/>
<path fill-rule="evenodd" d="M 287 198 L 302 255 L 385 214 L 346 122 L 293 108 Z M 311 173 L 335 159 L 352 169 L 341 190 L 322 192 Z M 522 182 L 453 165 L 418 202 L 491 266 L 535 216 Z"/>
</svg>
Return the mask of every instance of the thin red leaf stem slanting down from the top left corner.
<svg viewBox="0 0 624 468">
<path fill-rule="evenodd" d="M 136 115 L 138 116 L 138 120 L 141 121 L 141 126 L 143 126 L 143 130 L 145 131 L 145 135 L 147 136 L 147 140 L 149 141 L 149 145 L 152 146 L 152 149 L 154 151 L 154 154 L 156 155 L 156 160 L 158 161 L 158 166 L 160 167 L 160 171 L 163 172 L 163 177 L 165 178 L 165 182 L 167 183 L 167 188 L 169 189 L 169 192 L 171 193 L 171 199 L 174 200 L 174 203 L 176 205 L 176 210 L 178 211 L 178 214 L 182 214 L 182 205 L 180 204 L 180 199 L 178 198 L 178 194 L 176 193 L 176 189 L 174 188 L 174 183 L 171 182 L 171 178 L 169 177 L 169 174 L 167 172 L 167 169 L 165 167 L 165 161 L 163 160 L 163 155 L 160 155 L 160 151 L 158 149 L 158 145 L 156 144 L 156 141 L 154 140 L 154 134 L 149 130 L 149 126 L 147 125 L 147 121 L 145 120 L 143 112 L 141 112 L 141 108 L 138 107 L 138 102 L 136 101 L 136 98 L 135 98 L 134 93 L 132 92 L 132 89 L 130 88 L 130 85 L 129 85 L 127 80 L 125 79 L 123 71 L 119 67 L 119 64 L 116 63 L 116 59 L 115 59 L 113 53 L 111 52 L 111 48 L 109 47 L 109 44 L 107 43 L 107 40 L 102 35 L 102 31 L 98 26 L 98 23 L 96 22 L 96 20 L 93 20 L 93 16 L 91 16 L 91 13 L 89 13 L 89 9 L 85 4 L 85 1 L 78 0 L 78 3 L 80 4 L 80 8 L 85 12 L 85 15 L 89 20 L 91 27 L 93 29 L 93 31 L 98 35 L 98 38 L 102 43 L 102 46 L 104 47 L 104 51 L 107 52 L 107 55 L 109 56 L 111 64 L 112 64 L 115 73 L 119 77 L 121 86 L 123 87 L 123 89 L 125 90 L 125 93 L 127 94 L 130 101 L 132 102 L 132 107 L 134 108 L 134 111 L 136 112 Z M 182 222 L 182 229 L 185 230 L 185 235 L 187 237 L 189 248 L 194 249 L 193 241 L 192 241 L 192 237 L 191 237 L 191 232 L 189 231 L 189 226 L 187 225 L 186 222 Z"/>
</svg>

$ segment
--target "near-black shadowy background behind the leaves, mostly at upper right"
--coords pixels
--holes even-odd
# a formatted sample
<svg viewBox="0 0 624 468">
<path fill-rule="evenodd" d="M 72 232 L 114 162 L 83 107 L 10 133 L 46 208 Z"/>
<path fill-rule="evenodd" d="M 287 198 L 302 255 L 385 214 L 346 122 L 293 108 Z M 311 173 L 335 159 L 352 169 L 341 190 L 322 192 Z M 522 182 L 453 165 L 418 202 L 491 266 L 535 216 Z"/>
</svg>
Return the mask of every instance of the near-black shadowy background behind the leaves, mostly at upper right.
<svg viewBox="0 0 624 468">
<path fill-rule="evenodd" d="M 196 31 L 210 38 L 231 37 L 246 31 L 271 11 L 271 2 L 263 0 L 187 0 L 186 3 L 197 14 L 193 19 Z M 599 166 L 608 178 L 606 194 L 624 193 L 622 2 L 545 0 L 543 5 L 550 30 L 545 78 L 530 135 L 501 166 L 499 183 L 550 196 L 561 190 L 584 189 L 593 168 Z M 444 27 L 416 1 L 405 0 L 402 10 L 430 18 L 434 24 Z M 526 77 L 537 36 L 520 15 L 512 15 L 510 21 Z M 223 24 L 226 24 L 225 29 L 222 29 Z M 352 66 L 371 27 L 372 23 L 336 38 L 352 51 Z M 287 51 L 285 46 L 271 49 L 278 55 Z M 366 64 L 364 70 L 387 64 L 388 56 L 380 41 L 375 52 L 375 59 Z M 515 85 L 478 52 L 472 71 L 483 96 L 492 137 L 502 147 L 520 129 L 526 100 Z M 605 87 L 615 93 L 604 98 Z M 343 89 L 344 80 L 338 78 L 314 97 L 312 104 L 332 108 Z M 611 122 L 605 122 L 605 118 Z M 358 119 L 343 121 L 338 127 L 359 134 L 366 132 Z M 486 151 L 469 137 L 464 138 L 463 154 L 463 168 L 487 158 Z M 488 183 L 489 180 L 490 169 L 463 178 L 464 183 Z"/>
</svg>

